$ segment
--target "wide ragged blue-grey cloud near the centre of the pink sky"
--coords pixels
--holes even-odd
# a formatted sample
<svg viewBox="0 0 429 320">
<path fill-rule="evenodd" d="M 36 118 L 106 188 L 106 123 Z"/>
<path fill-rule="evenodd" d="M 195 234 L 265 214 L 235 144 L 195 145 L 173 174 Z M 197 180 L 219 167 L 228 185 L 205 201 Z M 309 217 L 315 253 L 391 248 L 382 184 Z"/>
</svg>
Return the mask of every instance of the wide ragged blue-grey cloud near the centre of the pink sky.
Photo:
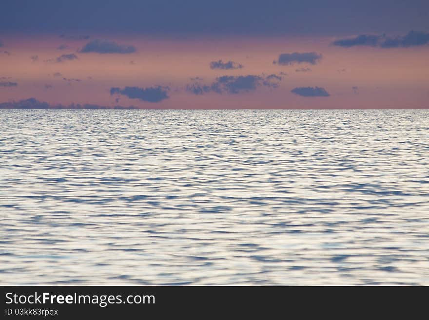
<svg viewBox="0 0 429 320">
<path fill-rule="evenodd" d="M 186 91 L 191 94 L 201 95 L 209 92 L 241 94 L 254 91 L 259 86 L 277 88 L 282 77 L 280 75 L 224 75 L 217 77 L 211 84 L 202 84 L 198 77 L 194 79 L 195 82 L 188 84 Z"/>
</svg>

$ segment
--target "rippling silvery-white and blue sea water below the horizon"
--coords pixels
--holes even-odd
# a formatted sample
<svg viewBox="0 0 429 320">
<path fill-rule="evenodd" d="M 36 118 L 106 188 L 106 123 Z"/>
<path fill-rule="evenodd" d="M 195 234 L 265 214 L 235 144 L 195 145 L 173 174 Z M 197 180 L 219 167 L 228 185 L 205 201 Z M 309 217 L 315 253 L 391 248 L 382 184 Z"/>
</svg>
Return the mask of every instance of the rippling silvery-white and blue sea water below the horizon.
<svg viewBox="0 0 429 320">
<path fill-rule="evenodd" d="M 0 111 L 0 283 L 429 284 L 429 110 Z"/>
</svg>

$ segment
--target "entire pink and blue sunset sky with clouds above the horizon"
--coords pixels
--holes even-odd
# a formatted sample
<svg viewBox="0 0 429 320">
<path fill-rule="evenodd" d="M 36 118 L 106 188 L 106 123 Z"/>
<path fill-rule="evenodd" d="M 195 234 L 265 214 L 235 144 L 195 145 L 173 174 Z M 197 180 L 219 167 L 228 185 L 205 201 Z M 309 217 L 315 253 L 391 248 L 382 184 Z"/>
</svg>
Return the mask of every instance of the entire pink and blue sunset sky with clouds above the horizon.
<svg viewBox="0 0 429 320">
<path fill-rule="evenodd" d="M 0 108 L 429 108 L 427 0 L 1 0 Z"/>
</svg>

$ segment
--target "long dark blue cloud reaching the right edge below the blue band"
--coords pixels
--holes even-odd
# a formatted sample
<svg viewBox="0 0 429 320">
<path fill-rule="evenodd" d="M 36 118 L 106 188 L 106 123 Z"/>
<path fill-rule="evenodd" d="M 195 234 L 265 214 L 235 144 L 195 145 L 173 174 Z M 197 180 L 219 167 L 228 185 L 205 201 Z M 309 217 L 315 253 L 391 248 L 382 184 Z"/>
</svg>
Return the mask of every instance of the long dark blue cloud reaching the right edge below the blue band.
<svg viewBox="0 0 429 320">
<path fill-rule="evenodd" d="M 429 44 L 429 33 L 411 30 L 401 37 L 387 37 L 386 35 L 359 35 L 354 38 L 339 39 L 331 44 L 340 47 L 370 46 L 380 48 L 409 48 Z"/>
</svg>

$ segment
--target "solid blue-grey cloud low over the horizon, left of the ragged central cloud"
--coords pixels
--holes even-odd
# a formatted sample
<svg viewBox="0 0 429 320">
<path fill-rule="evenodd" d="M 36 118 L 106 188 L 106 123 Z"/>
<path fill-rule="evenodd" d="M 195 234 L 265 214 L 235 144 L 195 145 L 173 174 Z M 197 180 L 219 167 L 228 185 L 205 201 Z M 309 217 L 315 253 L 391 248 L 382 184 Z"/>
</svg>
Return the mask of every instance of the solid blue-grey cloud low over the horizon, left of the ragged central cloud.
<svg viewBox="0 0 429 320">
<path fill-rule="evenodd" d="M 139 87 L 125 87 L 120 89 L 113 87 L 110 89 L 110 94 L 121 94 L 125 95 L 130 99 L 138 99 L 140 101 L 147 102 L 160 102 L 164 99 L 168 99 L 168 90 L 169 87 L 155 86 L 148 88 L 139 88 Z"/>
</svg>

